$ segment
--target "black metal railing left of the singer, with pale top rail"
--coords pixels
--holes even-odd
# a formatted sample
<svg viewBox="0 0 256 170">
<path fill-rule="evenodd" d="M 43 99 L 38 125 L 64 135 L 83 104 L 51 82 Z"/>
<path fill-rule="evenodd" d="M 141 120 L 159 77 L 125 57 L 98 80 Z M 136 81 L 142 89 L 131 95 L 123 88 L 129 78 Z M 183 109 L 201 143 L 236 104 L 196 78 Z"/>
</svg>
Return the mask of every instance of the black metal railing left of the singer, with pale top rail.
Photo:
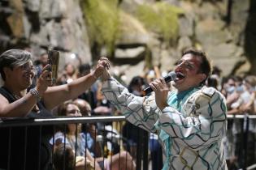
<svg viewBox="0 0 256 170">
<path fill-rule="evenodd" d="M 58 127 L 59 125 L 64 125 L 64 140 L 66 139 L 66 133 L 67 133 L 67 125 L 69 124 L 75 124 L 76 125 L 76 129 L 77 129 L 77 125 L 82 124 L 82 125 L 95 125 L 96 127 L 101 123 L 102 124 L 102 128 L 101 129 L 97 129 L 98 134 L 94 134 L 94 138 L 96 139 L 97 142 L 99 142 L 99 144 L 101 145 L 100 148 L 102 151 L 102 161 L 104 164 L 104 161 L 107 159 L 106 157 L 109 157 L 110 159 L 110 165 L 109 167 L 111 167 L 112 164 L 112 155 L 111 154 L 107 154 L 106 153 L 106 147 L 107 147 L 107 142 L 111 141 L 115 141 L 115 145 L 117 145 L 119 148 L 115 148 L 117 149 L 118 153 L 117 156 L 119 156 L 119 160 L 122 159 L 121 155 L 121 151 L 125 151 L 128 145 L 127 139 L 123 137 L 122 133 L 121 133 L 121 129 L 122 129 L 122 124 L 124 124 L 125 121 L 125 117 L 124 116 L 114 116 L 114 117 L 47 117 L 47 118 L 2 118 L 0 120 L 0 130 L 8 130 L 6 131 L 6 135 L 3 136 L 2 138 L 8 138 L 8 145 L 7 147 L 7 151 L 8 154 L 7 156 L 7 166 L 4 167 L 6 169 L 14 169 L 13 167 L 13 162 L 11 162 L 11 158 L 14 155 L 15 152 L 11 151 L 14 150 L 15 147 L 13 146 L 13 144 L 15 142 L 20 142 L 23 141 L 24 143 L 24 152 L 23 155 L 21 156 L 20 159 L 23 159 L 23 162 L 21 164 L 20 169 L 29 169 L 28 164 L 30 159 L 28 159 L 29 153 L 26 152 L 26 148 L 30 146 L 29 140 L 27 137 L 28 135 L 31 133 L 30 130 L 34 129 L 34 127 L 37 127 L 37 132 L 39 137 L 37 138 L 39 141 L 41 141 L 43 139 L 43 130 L 45 129 L 45 127 L 54 127 L 51 131 L 51 141 L 53 141 L 53 143 L 51 143 L 53 146 L 55 145 L 55 140 L 54 140 L 54 134 L 56 133 L 56 127 Z M 116 131 L 113 130 L 113 128 L 111 130 L 106 130 L 106 125 L 111 125 L 113 127 L 113 122 L 115 122 L 116 124 L 119 123 L 119 127 L 117 127 L 118 132 L 116 133 Z M 20 139 L 20 141 L 17 141 L 17 138 L 14 138 L 13 136 L 15 136 L 15 130 L 20 130 L 21 128 L 24 128 L 24 130 L 22 130 L 22 133 L 24 132 L 24 138 Z M 58 128 L 57 128 L 58 129 Z M 111 134 L 110 137 L 107 137 L 107 134 Z M 136 153 L 136 157 L 132 158 L 132 161 L 136 162 L 136 169 L 134 168 L 134 170 L 147 170 L 148 169 L 148 134 L 145 132 L 145 130 L 139 130 L 140 135 L 138 135 L 138 143 L 137 143 L 137 153 Z M 117 135 L 118 134 L 118 135 Z M 118 137 L 118 138 L 116 138 Z M 15 141 L 16 140 L 16 141 Z M 76 136 L 76 140 L 77 140 L 77 136 Z M 37 142 L 37 141 L 35 141 Z M 50 142 L 50 140 L 49 140 Z M 40 143 L 40 142 L 39 142 Z M 64 143 L 66 144 L 66 142 L 64 141 Z M 125 144 L 124 144 L 125 143 Z M 146 144 L 145 144 L 146 143 Z M 7 144 L 7 143 L 6 143 Z M 76 147 L 77 147 L 78 143 L 76 142 Z M 113 145 L 111 145 L 113 147 Z M 64 145 L 64 150 L 66 149 L 65 147 L 67 147 L 66 145 Z M 111 147 L 111 150 L 112 150 Z M 85 146 L 85 148 L 87 148 L 87 146 Z M 113 147 L 114 148 L 114 147 Z M 39 152 L 35 152 L 38 154 L 38 163 L 37 163 L 37 168 L 36 169 L 42 169 L 41 168 L 41 145 L 38 144 L 37 149 L 39 150 Z M 95 149 L 95 148 L 94 148 Z M 54 150 L 55 148 L 52 147 L 51 149 L 51 164 L 50 166 L 52 168 L 54 168 Z M 65 152 L 65 151 L 64 151 Z M 115 151 L 116 152 L 116 151 Z M 128 153 L 128 152 L 127 152 Z M 119 155 L 118 155 L 119 154 Z M 76 150 L 75 150 L 75 155 L 76 155 Z M 36 155 L 35 155 L 36 156 Z M 128 157 L 128 156 L 127 156 Z M 105 160 L 104 160 L 105 159 Z M 95 160 L 95 159 L 94 159 Z M 63 168 L 65 168 L 65 162 L 67 162 L 67 158 L 65 160 L 65 156 L 63 156 Z M 86 159 L 85 159 L 86 161 Z M 75 156 L 75 160 L 74 160 L 74 167 L 76 165 L 76 156 Z M 124 162 L 124 161 L 123 161 Z M 95 168 L 95 162 L 93 163 L 94 168 Z M 121 162 L 119 162 L 119 167 L 123 166 Z M 104 167 L 104 165 L 103 165 Z M 1 169 L 1 167 L 0 167 Z M 85 166 L 86 169 L 86 166 Z M 63 170 L 63 169 L 62 169 Z"/>
</svg>

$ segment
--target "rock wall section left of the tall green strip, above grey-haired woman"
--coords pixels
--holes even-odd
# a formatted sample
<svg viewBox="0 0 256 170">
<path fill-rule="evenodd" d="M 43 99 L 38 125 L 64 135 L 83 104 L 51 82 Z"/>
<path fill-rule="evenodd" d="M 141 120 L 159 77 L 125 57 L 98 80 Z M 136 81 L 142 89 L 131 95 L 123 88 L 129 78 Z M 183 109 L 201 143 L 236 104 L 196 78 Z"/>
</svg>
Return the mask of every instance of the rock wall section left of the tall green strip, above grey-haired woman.
<svg viewBox="0 0 256 170">
<path fill-rule="evenodd" d="M 76 53 L 81 62 L 91 62 L 79 0 L 9 0 L 0 3 L 1 52 L 10 48 L 29 48 L 34 57 L 38 57 L 51 47 L 62 52 L 61 64 L 72 60 L 71 53 Z"/>
</svg>

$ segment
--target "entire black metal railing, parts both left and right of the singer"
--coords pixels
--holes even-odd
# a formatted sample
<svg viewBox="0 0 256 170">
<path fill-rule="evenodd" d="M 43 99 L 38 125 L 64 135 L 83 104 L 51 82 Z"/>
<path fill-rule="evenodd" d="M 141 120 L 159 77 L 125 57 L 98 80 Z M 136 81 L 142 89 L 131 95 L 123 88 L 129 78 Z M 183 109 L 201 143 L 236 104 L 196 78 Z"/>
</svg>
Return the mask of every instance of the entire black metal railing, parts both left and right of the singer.
<svg viewBox="0 0 256 170">
<path fill-rule="evenodd" d="M 241 125 L 241 135 L 240 138 L 238 140 L 240 140 L 241 142 L 241 146 L 240 146 L 240 157 L 241 160 L 240 161 L 240 168 L 242 169 L 254 169 L 256 167 L 256 160 L 254 161 L 254 163 L 252 164 L 252 162 L 249 162 L 248 159 L 248 151 L 252 150 L 253 148 L 248 147 L 248 134 L 249 134 L 249 122 L 256 120 L 256 115 L 228 115 L 228 120 L 232 121 L 232 120 L 240 120 L 242 122 Z M 123 134 L 122 134 L 122 125 L 124 125 L 125 122 L 125 117 L 124 116 L 114 116 L 114 117 L 47 117 L 47 118 L 2 118 L 0 120 L 0 130 L 7 130 L 6 134 L 7 135 L 3 135 L 2 134 L 2 138 L 8 138 L 8 145 L 4 146 L 7 148 L 7 151 L 10 151 L 9 153 L 12 153 L 11 150 L 12 148 L 15 148 L 15 146 L 13 146 L 13 143 L 15 142 L 21 142 L 24 144 L 24 148 L 29 147 L 30 142 L 28 141 L 28 139 L 26 138 L 27 136 L 31 135 L 30 134 L 30 129 L 33 129 L 32 127 L 37 127 L 38 132 L 42 133 L 42 131 L 44 130 L 45 127 L 49 127 L 49 126 L 54 126 L 54 128 L 58 125 L 65 125 L 65 128 L 67 130 L 67 125 L 68 124 L 76 124 L 76 128 L 78 124 L 93 124 L 96 125 L 98 123 L 102 123 L 103 128 L 98 129 L 98 132 L 102 132 L 101 134 L 94 134 L 94 138 L 97 138 L 98 142 L 101 142 L 101 149 L 102 149 L 102 155 L 105 154 L 105 157 L 103 156 L 103 159 L 106 159 L 106 156 L 110 156 L 106 154 L 106 143 L 108 140 L 117 142 L 119 148 L 119 151 L 128 151 L 128 142 L 127 142 L 127 138 L 124 138 Z M 119 125 L 113 125 L 113 122 L 115 123 L 119 123 Z M 106 130 L 106 125 L 110 124 L 112 127 L 116 126 L 115 129 L 117 129 L 118 131 L 118 140 L 116 140 L 116 133 L 113 130 Z M 96 125 L 98 126 L 98 125 Z M 19 128 L 24 128 L 24 132 L 22 135 L 24 135 L 25 137 L 23 139 L 20 139 L 19 141 L 11 141 L 12 140 L 12 136 L 11 133 L 13 133 L 16 129 Z M 111 138 L 107 137 L 107 133 L 106 132 L 111 132 Z M 54 137 L 54 133 L 55 131 L 52 130 L 52 135 Z M 148 140 L 149 140 L 149 134 L 147 132 L 145 132 L 144 130 L 140 130 L 138 129 L 137 131 L 138 133 L 138 142 L 137 142 L 137 146 L 136 146 L 136 154 L 134 157 L 132 157 L 133 160 L 136 160 L 136 169 L 137 170 L 148 170 L 149 169 L 149 151 L 148 151 Z M 255 134 L 254 134 L 255 136 Z M 37 140 L 35 142 L 39 142 L 41 140 L 41 134 L 39 134 Z M 76 143 L 77 144 L 77 143 Z M 255 142 L 254 142 L 255 145 Z M 256 146 L 256 145 L 255 145 Z M 41 146 L 38 147 L 40 149 Z M 37 169 L 41 169 L 40 168 L 40 152 L 37 152 L 39 154 L 39 159 L 38 159 L 38 167 Z M 30 159 L 27 159 L 27 155 L 28 153 L 24 152 L 24 156 L 20 159 L 23 159 L 23 164 L 21 164 L 22 168 L 20 169 L 28 169 L 27 168 L 27 164 L 29 164 Z M 54 155 L 54 148 L 52 149 L 52 154 Z M 132 154 L 131 154 L 132 155 Z M 7 154 L 7 168 L 5 169 L 12 169 L 12 162 L 10 162 L 9 160 L 11 159 L 11 154 Z M 2 159 L 2 158 L 0 158 Z M 112 159 L 112 157 L 110 156 L 109 159 Z M 51 162 L 54 162 L 54 158 L 51 158 Z M 94 163 L 95 164 L 95 163 Z M 53 165 L 52 165 L 53 166 Z M 75 164 L 74 164 L 75 166 Z M 1 169 L 1 167 L 0 167 Z M 85 168 L 86 169 L 86 168 Z M 29 169 L 28 169 L 29 170 Z"/>
</svg>

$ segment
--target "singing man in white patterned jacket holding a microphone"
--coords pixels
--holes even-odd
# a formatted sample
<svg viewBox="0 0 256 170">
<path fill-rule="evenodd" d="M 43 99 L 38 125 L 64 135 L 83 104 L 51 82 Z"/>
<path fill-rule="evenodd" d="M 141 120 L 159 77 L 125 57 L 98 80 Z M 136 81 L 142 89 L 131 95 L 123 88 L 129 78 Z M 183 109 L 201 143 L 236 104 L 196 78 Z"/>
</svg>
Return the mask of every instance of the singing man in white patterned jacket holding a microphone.
<svg viewBox="0 0 256 170">
<path fill-rule="evenodd" d="M 210 75 L 206 54 L 185 51 L 174 71 L 176 91 L 157 79 L 150 83 L 153 95 L 134 96 L 105 71 L 102 92 L 128 121 L 158 134 L 166 155 L 163 170 L 228 169 L 222 142 L 226 101 L 215 88 L 203 86 Z"/>
</svg>

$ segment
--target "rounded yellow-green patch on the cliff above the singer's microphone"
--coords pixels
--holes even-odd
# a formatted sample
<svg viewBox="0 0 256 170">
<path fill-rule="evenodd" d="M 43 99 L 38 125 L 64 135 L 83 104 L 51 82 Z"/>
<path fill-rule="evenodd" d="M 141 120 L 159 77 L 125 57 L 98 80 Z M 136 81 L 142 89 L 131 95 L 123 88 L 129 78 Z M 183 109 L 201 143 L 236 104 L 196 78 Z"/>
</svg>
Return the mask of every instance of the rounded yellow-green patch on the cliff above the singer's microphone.
<svg viewBox="0 0 256 170">
<path fill-rule="evenodd" d="M 175 40 L 178 36 L 178 15 L 183 11 L 167 2 L 156 2 L 154 5 L 141 5 L 137 9 L 137 18 L 145 28 L 158 33 L 164 40 Z"/>
</svg>

